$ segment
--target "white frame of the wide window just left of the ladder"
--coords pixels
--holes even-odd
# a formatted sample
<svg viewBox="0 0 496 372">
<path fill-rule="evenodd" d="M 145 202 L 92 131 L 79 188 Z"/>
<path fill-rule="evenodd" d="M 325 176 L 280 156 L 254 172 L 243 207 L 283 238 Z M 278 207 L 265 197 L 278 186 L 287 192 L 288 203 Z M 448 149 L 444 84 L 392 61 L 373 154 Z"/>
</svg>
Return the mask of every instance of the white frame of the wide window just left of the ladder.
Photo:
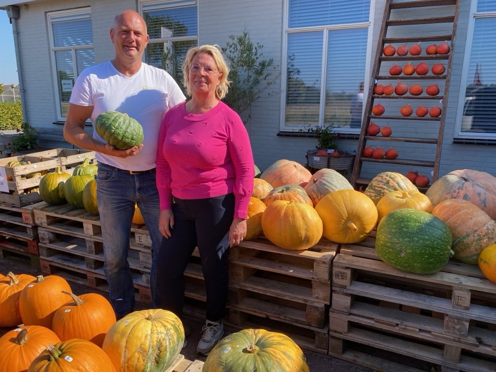
<svg viewBox="0 0 496 372">
<path fill-rule="evenodd" d="M 319 105 L 319 119 L 318 126 L 323 127 L 325 120 L 325 94 L 326 94 L 326 83 L 327 83 L 327 60 L 328 60 L 328 42 L 329 42 L 329 32 L 332 30 L 343 30 L 343 29 L 355 29 L 355 28 L 368 28 L 368 42 L 366 48 L 366 55 L 372 56 L 373 53 L 373 45 L 372 43 L 372 34 L 373 34 L 373 25 L 374 25 L 374 15 L 375 15 L 375 1 L 370 1 L 369 7 L 369 21 L 368 22 L 357 22 L 357 23 L 342 23 L 339 25 L 321 25 L 321 26 L 309 26 L 309 27 L 289 27 L 289 0 L 285 0 L 283 4 L 283 45 L 282 45 L 282 61 L 281 68 L 284 71 L 281 74 L 281 87 L 283 92 L 287 91 L 287 69 L 288 69 L 288 35 L 292 33 L 302 33 L 302 32 L 314 32 L 319 31 L 323 33 L 322 39 L 322 65 L 321 65 L 321 86 L 320 86 L 320 105 Z M 372 60 L 370 58 L 366 59 L 365 63 L 365 74 L 363 76 L 363 81 L 365 83 L 364 86 L 364 105 L 362 109 L 362 115 L 365 110 L 365 102 L 368 99 L 368 90 L 369 90 L 369 80 L 367 76 L 370 76 L 371 68 L 372 68 Z M 281 94 L 280 101 L 280 123 L 279 130 L 283 132 L 301 132 L 307 131 L 309 128 L 305 126 L 303 123 L 299 127 L 297 126 L 287 126 L 286 125 L 286 93 Z M 360 133 L 360 128 L 339 128 L 341 133 L 351 133 L 358 134 Z"/>
</svg>

